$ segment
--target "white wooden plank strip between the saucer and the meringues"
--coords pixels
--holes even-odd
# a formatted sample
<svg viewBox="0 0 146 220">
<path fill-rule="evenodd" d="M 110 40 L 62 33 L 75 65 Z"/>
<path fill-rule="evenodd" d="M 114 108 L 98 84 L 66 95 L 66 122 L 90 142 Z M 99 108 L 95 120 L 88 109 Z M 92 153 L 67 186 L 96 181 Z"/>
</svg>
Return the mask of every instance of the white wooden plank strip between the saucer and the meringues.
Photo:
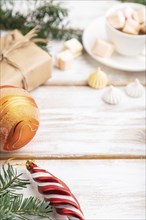
<svg viewBox="0 0 146 220">
<path fill-rule="evenodd" d="M 51 54 L 55 59 L 56 54 L 60 51 L 63 42 L 54 41 L 51 46 Z M 54 62 L 53 62 L 54 63 Z M 97 67 L 107 74 L 109 84 L 116 86 L 125 86 L 129 82 L 138 78 L 142 84 L 146 85 L 145 72 L 128 72 L 116 70 L 93 60 L 88 54 L 74 60 L 72 68 L 66 71 L 53 68 L 53 76 L 49 79 L 46 86 L 86 86 L 88 76 L 97 69 Z"/>
</svg>

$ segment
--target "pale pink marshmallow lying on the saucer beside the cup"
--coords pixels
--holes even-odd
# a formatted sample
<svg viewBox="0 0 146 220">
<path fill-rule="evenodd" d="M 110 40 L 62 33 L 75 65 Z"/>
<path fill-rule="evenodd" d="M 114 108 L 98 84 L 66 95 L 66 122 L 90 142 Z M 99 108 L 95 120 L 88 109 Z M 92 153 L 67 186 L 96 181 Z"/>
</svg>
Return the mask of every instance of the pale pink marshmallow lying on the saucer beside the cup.
<svg viewBox="0 0 146 220">
<path fill-rule="evenodd" d="M 114 47 L 112 44 L 97 39 L 93 45 L 92 52 L 93 54 L 100 57 L 110 57 L 114 51 Z"/>
</svg>

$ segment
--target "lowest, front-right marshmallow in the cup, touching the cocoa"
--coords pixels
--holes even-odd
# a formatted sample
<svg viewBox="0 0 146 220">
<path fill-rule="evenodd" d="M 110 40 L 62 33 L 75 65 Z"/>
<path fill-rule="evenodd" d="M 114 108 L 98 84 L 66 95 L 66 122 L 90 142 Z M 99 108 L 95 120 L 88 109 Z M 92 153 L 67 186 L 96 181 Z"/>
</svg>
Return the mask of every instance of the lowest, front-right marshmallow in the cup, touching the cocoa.
<svg viewBox="0 0 146 220">
<path fill-rule="evenodd" d="M 140 30 L 140 25 L 134 19 L 128 19 L 123 28 L 123 32 L 127 34 L 138 34 Z"/>
</svg>

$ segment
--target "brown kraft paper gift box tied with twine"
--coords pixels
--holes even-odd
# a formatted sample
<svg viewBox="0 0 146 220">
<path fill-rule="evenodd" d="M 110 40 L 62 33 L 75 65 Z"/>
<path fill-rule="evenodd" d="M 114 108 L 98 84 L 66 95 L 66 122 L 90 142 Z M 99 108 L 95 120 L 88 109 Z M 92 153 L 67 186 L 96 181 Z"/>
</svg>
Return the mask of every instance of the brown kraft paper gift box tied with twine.
<svg viewBox="0 0 146 220">
<path fill-rule="evenodd" d="M 30 91 L 51 77 L 51 57 L 31 40 L 12 49 L 13 44 L 23 40 L 25 36 L 18 30 L 0 38 L 0 84 Z"/>
</svg>

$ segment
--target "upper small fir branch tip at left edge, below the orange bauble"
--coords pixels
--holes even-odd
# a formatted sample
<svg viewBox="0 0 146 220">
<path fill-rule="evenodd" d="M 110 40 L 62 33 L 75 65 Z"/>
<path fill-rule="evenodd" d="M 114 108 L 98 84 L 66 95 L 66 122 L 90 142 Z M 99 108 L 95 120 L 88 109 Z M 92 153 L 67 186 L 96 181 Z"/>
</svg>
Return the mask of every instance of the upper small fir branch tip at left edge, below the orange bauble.
<svg viewBox="0 0 146 220">
<path fill-rule="evenodd" d="M 20 178 L 22 174 L 17 174 L 13 166 L 8 164 L 2 166 L 0 172 L 0 195 L 13 190 L 26 188 L 29 184 L 28 180 Z"/>
</svg>

